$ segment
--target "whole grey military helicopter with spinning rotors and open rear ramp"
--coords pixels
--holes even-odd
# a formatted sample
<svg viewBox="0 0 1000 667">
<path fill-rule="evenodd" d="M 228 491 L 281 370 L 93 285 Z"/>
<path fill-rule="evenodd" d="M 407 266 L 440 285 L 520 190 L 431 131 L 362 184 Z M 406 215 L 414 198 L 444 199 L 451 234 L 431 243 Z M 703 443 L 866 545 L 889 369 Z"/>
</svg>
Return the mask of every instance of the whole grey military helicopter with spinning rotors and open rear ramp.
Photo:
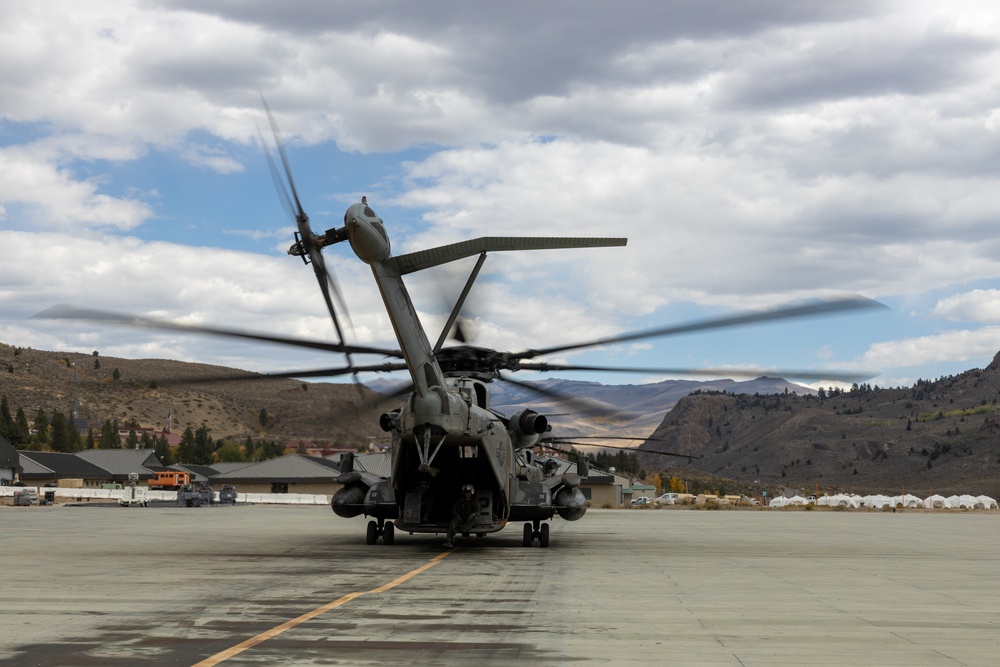
<svg viewBox="0 0 1000 667">
<path fill-rule="evenodd" d="M 265 102 L 266 108 L 266 102 Z M 350 205 L 342 227 L 316 234 L 310 227 L 280 139 L 274 118 L 268 118 L 275 137 L 282 169 L 279 170 L 270 150 L 265 155 L 278 187 L 279 196 L 296 221 L 294 243 L 288 253 L 311 265 L 337 332 L 339 342 L 307 341 L 232 329 L 191 326 L 148 320 L 100 311 L 73 308 L 50 309 L 43 317 L 114 321 L 160 329 L 183 330 L 309 347 L 342 353 L 346 363 L 336 368 L 282 373 L 227 376 L 223 379 L 262 379 L 279 377 L 357 376 L 364 372 L 407 371 L 410 384 L 406 398 L 382 414 L 380 427 L 391 434 L 391 465 L 388 477 L 355 470 L 354 459 L 342 460 L 332 509 L 340 517 L 364 514 L 366 542 L 395 542 L 396 531 L 410 534 L 440 534 L 449 530 L 452 507 L 460 489 L 471 484 L 479 508 L 475 522 L 465 532 L 485 536 L 503 530 L 511 523 L 523 522 L 522 544 L 535 542 L 549 546 L 549 524 L 556 516 L 576 521 L 587 511 L 587 498 L 580 489 L 588 474 L 586 456 L 579 456 L 577 473 L 556 474 L 551 466 L 535 460 L 533 448 L 550 432 L 548 418 L 529 407 L 503 415 L 490 407 L 489 383 L 513 382 L 549 398 L 577 407 L 583 402 L 559 392 L 543 390 L 509 376 L 521 370 L 533 371 L 627 371 L 639 373 L 686 373 L 695 369 L 627 368 L 555 364 L 533 361 L 539 357 L 588 347 L 597 347 L 668 335 L 752 324 L 795 317 L 878 307 L 875 301 L 850 297 L 796 305 L 767 312 L 745 313 L 689 324 L 558 345 L 517 353 L 498 352 L 485 347 L 459 344 L 446 346 L 449 333 L 458 326 L 462 308 L 479 275 L 487 255 L 494 252 L 609 248 L 625 246 L 625 238 L 580 237 L 481 237 L 403 255 L 393 255 L 386 225 L 366 198 Z M 262 136 L 262 144 L 263 136 Z M 345 342 L 338 308 L 346 313 L 333 274 L 326 268 L 322 250 L 347 241 L 354 254 L 371 267 L 372 275 L 395 332 L 399 349 L 351 345 Z M 461 295 L 434 344 L 417 315 L 404 276 L 441 266 L 456 260 L 477 257 Z M 456 336 L 459 341 L 464 336 Z M 355 355 L 381 355 L 399 361 L 357 364 Z M 735 374 L 736 369 L 714 369 L 717 374 Z M 745 374 L 745 371 L 743 372 Z M 836 374 L 786 372 L 787 376 L 837 379 Z M 855 378 L 856 375 L 845 376 Z M 592 406 L 591 406 L 592 407 Z"/>
</svg>

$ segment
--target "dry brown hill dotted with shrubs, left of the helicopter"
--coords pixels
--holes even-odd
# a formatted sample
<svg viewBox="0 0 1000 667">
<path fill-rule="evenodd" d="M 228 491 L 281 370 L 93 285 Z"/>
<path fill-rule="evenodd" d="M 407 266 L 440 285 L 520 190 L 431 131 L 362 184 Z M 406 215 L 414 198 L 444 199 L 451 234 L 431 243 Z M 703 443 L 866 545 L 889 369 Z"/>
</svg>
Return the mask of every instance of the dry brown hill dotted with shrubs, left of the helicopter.
<svg viewBox="0 0 1000 667">
<path fill-rule="evenodd" d="M 354 446 L 371 436 L 385 436 L 378 426 L 384 406 L 375 406 L 378 395 L 363 387 L 296 380 L 198 383 L 238 372 L 164 359 L 95 357 L 0 344 L 0 395 L 7 396 L 11 412 L 23 408 L 29 421 L 39 408 L 50 415 L 68 415 L 76 401 L 77 416 L 95 430 L 108 419 L 134 419 L 161 428 L 172 411 L 174 432 L 207 426 L 215 439 L 251 435 Z M 173 382 L 177 380 L 191 383 Z M 268 415 L 266 426 L 260 424 L 262 409 Z"/>
</svg>

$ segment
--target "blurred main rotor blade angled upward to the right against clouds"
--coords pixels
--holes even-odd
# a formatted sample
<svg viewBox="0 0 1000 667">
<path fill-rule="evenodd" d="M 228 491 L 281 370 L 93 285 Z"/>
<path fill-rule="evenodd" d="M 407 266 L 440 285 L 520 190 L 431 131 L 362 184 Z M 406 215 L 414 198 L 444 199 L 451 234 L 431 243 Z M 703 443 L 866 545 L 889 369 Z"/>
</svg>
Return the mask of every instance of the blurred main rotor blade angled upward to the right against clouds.
<svg viewBox="0 0 1000 667">
<path fill-rule="evenodd" d="M 755 324 L 757 322 L 771 322 L 775 320 L 792 319 L 796 317 L 811 317 L 816 315 L 827 315 L 830 313 L 846 312 L 852 310 L 867 310 L 872 308 L 887 308 L 886 305 L 873 299 L 865 297 L 849 297 L 843 299 L 833 299 L 809 303 L 798 306 L 786 306 L 775 310 L 762 312 L 743 313 L 739 315 L 726 315 L 707 320 L 698 320 L 688 324 L 663 327 L 660 329 L 647 329 L 621 336 L 609 336 L 597 340 L 576 343 L 571 345 L 556 345 L 541 350 L 525 350 L 524 352 L 512 354 L 514 359 L 532 359 L 555 352 L 565 352 L 567 350 L 579 350 L 585 347 L 597 347 L 599 345 L 611 345 L 613 343 L 625 343 L 633 340 L 643 340 L 646 338 L 661 338 L 664 336 L 674 336 L 677 334 L 691 333 L 694 331 L 705 331 L 708 329 L 724 329 L 737 327 L 745 324 Z"/>
</svg>

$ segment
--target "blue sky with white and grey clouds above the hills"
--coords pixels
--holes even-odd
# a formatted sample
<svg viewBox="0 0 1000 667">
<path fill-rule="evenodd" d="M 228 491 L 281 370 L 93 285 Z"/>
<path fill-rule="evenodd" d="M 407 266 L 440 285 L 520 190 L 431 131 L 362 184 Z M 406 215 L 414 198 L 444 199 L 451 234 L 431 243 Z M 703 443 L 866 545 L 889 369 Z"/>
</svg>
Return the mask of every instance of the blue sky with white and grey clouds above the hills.
<svg viewBox="0 0 1000 667">
<path fill-rule="evenodd" d="M 286 254 L 294 222 L 261 147 L 263 95 L 317 231 L 365 195 L 394 254 L 479 236 L 628 238 L 492 253 L 466 310 L 478 345 L 862 295 L 888 308 L 549 360 L 909 386 L 1000 351 L 996 3 L 42 0 L 0 4 L 0 63 L 9 345 L 339 364 L 31 317 L 68 304 L 335 340 L 311 268 Z M 348 342 L 396 347 L 370 268 L 347 244 L 326 256 Z M 407 278 L 432 340 L 473 263 Z"/>
</svg>

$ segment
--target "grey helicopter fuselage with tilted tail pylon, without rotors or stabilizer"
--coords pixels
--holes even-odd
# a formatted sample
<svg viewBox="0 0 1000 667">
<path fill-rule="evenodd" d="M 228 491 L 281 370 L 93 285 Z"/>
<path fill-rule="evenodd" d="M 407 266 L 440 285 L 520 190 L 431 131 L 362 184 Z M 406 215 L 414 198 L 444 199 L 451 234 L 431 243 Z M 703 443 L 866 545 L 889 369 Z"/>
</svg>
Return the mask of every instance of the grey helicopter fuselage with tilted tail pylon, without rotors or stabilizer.
<svg viewBox="0 0 1000 667">
<path fill-rule="evenodd" d="M 381 218 L 363 202 L 348 208 L 344 222 L 355 254 L 372 268 L 413 393 L 383 415 L 382 426 L 392 434 L 390 477 L 345 473 L 334 511 L 340 516 L 363 511 L 378 519 L 380 533 L 385 521 L 410 533 L 442 533 L 459 490 L 472 484 L 480 511 L 470 532 L 495 532 L 510 520 L 531 521 L 537 530 L 556 511 L 570 520 L 582 517 L 586 499 L 577 488 L 579 477 L 547 477 L 516 456 L 545 432 L 545 418 L 522 410 L 507 419 L 490 410 L 485 382 L 446 375 L 400 269 L 386 261 L 390 244 Z"/>
</svg>

